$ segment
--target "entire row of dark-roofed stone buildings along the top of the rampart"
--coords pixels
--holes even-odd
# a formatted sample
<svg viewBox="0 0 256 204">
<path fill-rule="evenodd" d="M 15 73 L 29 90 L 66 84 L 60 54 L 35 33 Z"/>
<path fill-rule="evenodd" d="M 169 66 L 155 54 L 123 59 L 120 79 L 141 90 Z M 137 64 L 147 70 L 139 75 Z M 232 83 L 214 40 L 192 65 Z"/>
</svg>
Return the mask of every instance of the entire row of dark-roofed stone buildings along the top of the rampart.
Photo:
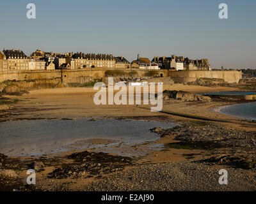
<svg viewBox="0 0 256 204">
<path fill-rule="evenodd" d="M 56 54 L 36 50 L 29 57 L 21 50 L 3 50 L 0 52 L 0 71 L 15 70 L 53 70 L 84 68 L 138 68 L 173 70 L 210 70 L 208 59 L 188 59 L 188 57 L 154 57 L 152 61 L 140 57 L 131 63 L 124 56 L 111 54 L 64 53 Z"/>
</svg>

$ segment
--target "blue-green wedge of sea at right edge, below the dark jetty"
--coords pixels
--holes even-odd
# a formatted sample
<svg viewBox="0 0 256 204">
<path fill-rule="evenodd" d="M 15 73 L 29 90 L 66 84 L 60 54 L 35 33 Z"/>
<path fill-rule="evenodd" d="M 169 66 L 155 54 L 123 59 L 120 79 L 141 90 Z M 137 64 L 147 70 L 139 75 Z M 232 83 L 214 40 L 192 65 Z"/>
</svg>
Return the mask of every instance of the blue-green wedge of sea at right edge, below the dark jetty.
<svg viewBox="0 0 256 204">
<path fill-rule="evenodd" d="M 221 106 L 216 108 L 216 111 L 235 117 L 241 117 L 246 120 L 256 120 L 256 102 Z"/>
</svg>

